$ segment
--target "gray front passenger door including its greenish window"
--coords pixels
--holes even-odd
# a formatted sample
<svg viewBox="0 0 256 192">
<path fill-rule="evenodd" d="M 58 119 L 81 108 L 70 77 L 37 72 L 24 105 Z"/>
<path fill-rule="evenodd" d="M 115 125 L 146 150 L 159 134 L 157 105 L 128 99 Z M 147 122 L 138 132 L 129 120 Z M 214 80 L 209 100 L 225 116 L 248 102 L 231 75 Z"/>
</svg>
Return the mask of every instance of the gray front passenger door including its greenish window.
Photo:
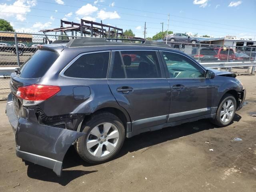
<svg viewBox="0 0 256 192">
<path fill-rule="evenodd" d="M 190 58 L 174 52 L 160 52 L 172 89 L 168 122 L 203 116 L 212 111 L 212 80 Z"/>
</svg>

